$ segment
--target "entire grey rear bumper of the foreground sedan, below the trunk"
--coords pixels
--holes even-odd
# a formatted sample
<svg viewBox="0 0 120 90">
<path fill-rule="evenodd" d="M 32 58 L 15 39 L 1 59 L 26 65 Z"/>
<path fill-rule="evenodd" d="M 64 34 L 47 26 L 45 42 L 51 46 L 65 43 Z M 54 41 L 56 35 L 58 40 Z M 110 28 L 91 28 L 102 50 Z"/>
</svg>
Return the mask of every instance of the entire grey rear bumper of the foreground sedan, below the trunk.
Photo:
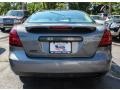
<svg viewBox="0 0 120 90">
<path fill-rule="evenodd" d="M 107 72 L 111 54 L 97 52 L 89 58 L 29 58 L 23 50 L 10 52 L 12 70 L 17 75 L 88 74 Z"/>
</svg>

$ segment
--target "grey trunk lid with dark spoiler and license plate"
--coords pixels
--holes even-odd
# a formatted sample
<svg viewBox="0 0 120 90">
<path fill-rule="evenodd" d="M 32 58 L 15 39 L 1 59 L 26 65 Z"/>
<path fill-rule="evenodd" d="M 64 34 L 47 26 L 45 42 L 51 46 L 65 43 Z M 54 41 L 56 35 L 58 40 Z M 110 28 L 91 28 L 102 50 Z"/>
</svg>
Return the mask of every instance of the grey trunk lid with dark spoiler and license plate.
<svg viewBox="0 0 120 90">
<path fill-rule="evenodd" d="M 49 25 L 26 26 L 18 34 L 29 57 L 91 57 L 103 32 L 95 26 Z"/>
</svg>

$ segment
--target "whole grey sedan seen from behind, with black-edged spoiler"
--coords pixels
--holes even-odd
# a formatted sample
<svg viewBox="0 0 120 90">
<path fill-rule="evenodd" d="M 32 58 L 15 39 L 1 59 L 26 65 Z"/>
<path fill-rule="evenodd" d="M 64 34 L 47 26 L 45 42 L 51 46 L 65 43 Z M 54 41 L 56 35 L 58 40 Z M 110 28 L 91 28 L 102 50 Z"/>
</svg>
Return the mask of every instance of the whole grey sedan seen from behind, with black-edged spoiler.
<svg viewBox="0 0 120 90">
<path fill-rule="evenodd" d="M 14 26 L 9 60 L 20 76 L 101 75 L 110 69 L 111 33 L 83 11 L 42 11 Z"/>
</svg>

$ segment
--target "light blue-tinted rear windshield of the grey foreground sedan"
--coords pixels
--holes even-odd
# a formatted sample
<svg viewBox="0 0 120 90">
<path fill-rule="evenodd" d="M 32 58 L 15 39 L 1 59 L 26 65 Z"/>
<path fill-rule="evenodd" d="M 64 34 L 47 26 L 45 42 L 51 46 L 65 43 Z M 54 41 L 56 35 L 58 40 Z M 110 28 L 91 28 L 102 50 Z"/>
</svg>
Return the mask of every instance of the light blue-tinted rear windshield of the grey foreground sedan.
<svg viewBox="0 0 120 90">
<path fill-rule="evenodd" d="M 27 19 L 29 23 L 93 23 L 84 12 L 49 11 L 38 12 Z"/>
</svg>

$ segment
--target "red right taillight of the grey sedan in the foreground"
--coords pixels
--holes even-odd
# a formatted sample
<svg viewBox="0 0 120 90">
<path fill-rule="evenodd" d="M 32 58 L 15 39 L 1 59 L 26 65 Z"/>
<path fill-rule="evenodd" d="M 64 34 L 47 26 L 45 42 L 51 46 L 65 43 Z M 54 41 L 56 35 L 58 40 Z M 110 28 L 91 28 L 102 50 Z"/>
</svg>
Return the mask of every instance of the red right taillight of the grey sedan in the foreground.
<svg viewBox="0 0 120 90">
<path fill-rule="evenodd" d="M 111 45 L 112 44 L 112 36 L 111 36 L 111 33 L 110 31 L 108 30 L 105 30 L 104 31 L 104 34 L 102 36 L 102 39 L 100 41 L 100 44 L 99 46 L 100 47 L 104 47 L 104 46 L 108 46 L 108 45 Z"/>
</svg>

